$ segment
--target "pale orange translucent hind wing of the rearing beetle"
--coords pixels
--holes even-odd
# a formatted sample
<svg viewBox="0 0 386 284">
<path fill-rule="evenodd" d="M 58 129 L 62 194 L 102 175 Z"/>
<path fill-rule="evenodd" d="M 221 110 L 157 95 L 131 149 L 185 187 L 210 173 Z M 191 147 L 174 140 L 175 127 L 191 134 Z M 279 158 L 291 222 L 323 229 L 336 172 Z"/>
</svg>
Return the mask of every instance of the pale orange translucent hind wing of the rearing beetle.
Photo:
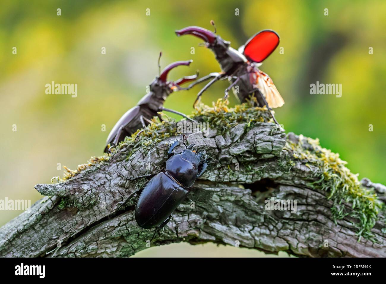
<svg viewBox="0 0 386 284">
<path fill-rule="evenodd" d="M 259 88 L 264 95 L 269 107 L 281 107 L 284 104 L 284 100 L 272 82 L 272 79 L 261 70 L 257 71 L 256 76 L 256 87 Z"/>
</svg>

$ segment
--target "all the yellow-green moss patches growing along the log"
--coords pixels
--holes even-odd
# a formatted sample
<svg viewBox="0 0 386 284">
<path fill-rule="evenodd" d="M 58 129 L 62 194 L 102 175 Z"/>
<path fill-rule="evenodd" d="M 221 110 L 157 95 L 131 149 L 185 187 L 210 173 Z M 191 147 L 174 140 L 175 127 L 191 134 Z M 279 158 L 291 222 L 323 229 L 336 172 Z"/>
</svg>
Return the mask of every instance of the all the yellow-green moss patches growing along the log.
<svg viewBox="0 0 386 284">
<path fill-rule="evenodd" d="M 224 135 L 229 129 L 237 124 L 246 124 L 246 131 L 258 125 L 261 122 L 271 122 L 271 115 L 266 108 L 256 107 L 256 102 L 248 102 L 241 105 L 236 105 L 233 108 L 227 106 L 227 102 L 218 100 L 213 103 L 212 107 L 207 105 L 199 105 L 191 115 L 198 122 L 209 122 L 212 128 L 215 128 L 217 135 Z M 140 139 L 135 139 L 136 134 L 126 137 L 117 148 L 113 150 L 113 154 L 120 151 L 122 148 L 127 149 L 127 158 L 132 153 L 141 149 L 141 152 L 146 154 L 147 151 L 154 148 L 157 143 L 177 136 L 176 121 L 163 114 L 163 121 L 158 117 L 152 119 L 154 123 L 147 126 L 141 133 Z M 137 131 L 138 132 L 138 131 Z M 332 213 L 335 218 L 342 219 L 350 214 L 353 218 L 360 220 L 357 226 L 357 235 L 359 240 L 362 236 L 371 238 L 370 230 L 374 226 L 379 209 L 382 206 L 381 201 L 373 190 L 361 186 L 357 175 L 354 175 L 345 166 L 347 163 L 339 158 L 339 154 L 333 153 L 330 150 L 322 148 L 318 140 L 299 136 L 298 141 L 287 139 L 284 150 L 292 153 L 287 159 L 280 160 L 278 165 L 283 172 L 289 172 L 299 160 L 307 167 L 311 165 L 317 170 L 313 172 L 314 177 L 317 177 L 317 182 L 314 182 L 312 187 L 323 189 L 328 192 L 328 199 L 334 202 Z M 66 169 L 64 177 L 59 179 L 59 182 L 71 179 L 78 173 L 86 170 L 94 170 L 100 167 L 103 163 L 108 162 L 111 158 L 108 154 L 100 157 L 93 157 L 88 163 L 78 166 L 76 170 Z M 253 168 L 248 168 L 247 163 L 244 164 L 247 172 L 253 173 Z M 136 187 L 141 188 L 146 183 L 146 179 L 140 180 Z M 347 211 L 347 205 L 350 204 L 352 210 Z M 71 207 L 77 207 L 78 204 L 71 204 Z M 62 208 L 68 207 L 66 200 L 62 199 L 59 206 Z"/>
</svg>

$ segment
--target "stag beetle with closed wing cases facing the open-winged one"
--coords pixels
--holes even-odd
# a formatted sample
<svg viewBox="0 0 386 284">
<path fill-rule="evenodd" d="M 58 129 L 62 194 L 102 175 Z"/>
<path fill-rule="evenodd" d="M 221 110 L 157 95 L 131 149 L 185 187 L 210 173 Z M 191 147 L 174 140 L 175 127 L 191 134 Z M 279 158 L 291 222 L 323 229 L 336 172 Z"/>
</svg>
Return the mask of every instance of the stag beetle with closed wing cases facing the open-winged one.
<svg viewBox="0 0 386 284">
<path fill-rule="evenodd" d="M 198 77 L 198 73 L 196 75 L 182 77 L 179 80 L 167 81 L 167 76 L 170 70 L 177 66 L 186 65 L 189 66 L 193 60 L 188 61 L 176 61 L 174 63 L 169 64 L 164 68 L 161 73 L 161 66 L 159 65 L 159 61 L 161 59 L 162 53 L 159 53 L 158 58 L 158 68 L 159 68 L 159 76 L 157 76 L 153 82 L 149 85 L 150 92 L 147 93 L 138 104 L 129 109 L 115 124 L 110 134 L 108 134 L 108 138 L 106 141 L 105 152 L 110 152 L 111 148 L 118 145 L 120 141 L 123 141 L 126 136 L 130 136 L 135 133 L 138 129 L 145 128 L 148 124 L 151 123 L 150 119 L 154 116 L 158 116 L 161 119 L 161 116 L 158 114 L 159 111 L 168 111 L 173 112 L 174 114 L 178 114 L 180 116 L 189 119 L 190 121 L 195 122 L 193 119 L 190 119 L 185 114 L 173 111 L 172 109 L 166 109 L 163 107 L 163 104 L 166 98 L 173 91 L 176 90 L 189 90 L 191 87 L 183 88 L 180 85 L 186 82 L 190 82 L 195 80 Z M 143 129 L 142 129 L 143 131 Z M 140 133 L 142 132 L 140 131 Z M 138 133 L 139 135 L 139 133 Z M 137 137 L 138 137 L 137 135 Z M 108 144 L 111 144 L 108 147 Z"/>
</svg>

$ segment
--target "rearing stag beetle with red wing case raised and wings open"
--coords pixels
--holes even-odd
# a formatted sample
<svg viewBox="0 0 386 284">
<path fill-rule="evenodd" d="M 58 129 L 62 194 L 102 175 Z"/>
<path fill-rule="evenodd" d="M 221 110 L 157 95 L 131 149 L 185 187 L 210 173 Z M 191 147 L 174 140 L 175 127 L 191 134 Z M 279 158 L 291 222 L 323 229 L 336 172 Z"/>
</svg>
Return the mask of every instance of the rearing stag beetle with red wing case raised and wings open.
<svg viewBox="0 0 386 284">
<path fill-rule="evenodd" d="M 211 24 L 215 27 L 213 21 L 211 21 Z M 239 92 L 235 93 L 235 95 L 239 98 L 240 102 L 243 103 L 250 95 L 256 94 L 259 105 L 261 107 L 266 105 L 272 118 L 278 124 L 270 107 L 281 107 L 284 104 L 284 100 L 273 84 L 271 78 L 257 68 L 279 45 L 279 36 L 276 32 L 272 30 L 260 31 L 248 39 L 243 46 L 240 46 L 239 50 L 231 48 L 229 41 L 225 41 L 220 36 L 216 35 L 216 27 L 214 32 L 196 26 L 186 27 L 175 32 L 177 36 L 191 34 L 203 39 L 206 42 L 205 46 L 212 49 L 222 70 L 220 73 L 210 73 L 189 86 L 192 87 L 197 83 L 212 78 L 212 80 L 198 93 L 193 107 L 196 105 L 196 102 L 200 99 L 203 92 L 205 92 L 205 90 L 213 83 L 220 79 L 228 78 L 231 84 L 225 90 L 224 99 L 227 99 L 229 90 L 237 84 L 239 86 Z"/>
</svg>

